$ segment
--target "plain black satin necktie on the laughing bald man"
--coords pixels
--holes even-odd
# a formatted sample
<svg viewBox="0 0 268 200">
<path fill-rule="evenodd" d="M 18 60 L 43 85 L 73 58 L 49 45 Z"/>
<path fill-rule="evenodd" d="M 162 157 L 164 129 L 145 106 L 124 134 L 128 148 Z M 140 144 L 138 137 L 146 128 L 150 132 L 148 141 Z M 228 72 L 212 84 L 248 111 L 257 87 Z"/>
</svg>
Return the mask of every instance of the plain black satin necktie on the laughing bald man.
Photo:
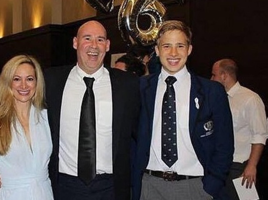
<svg viewBox="0 0 268 200">
<path fill-rule="evenodd" d="M 88 185 L 96 176 L 95 97 L 92 89 L 95 79 L 84 77 L 83 80 L 87 89 L 80 113 L 77 174 Z"/>
</svg>

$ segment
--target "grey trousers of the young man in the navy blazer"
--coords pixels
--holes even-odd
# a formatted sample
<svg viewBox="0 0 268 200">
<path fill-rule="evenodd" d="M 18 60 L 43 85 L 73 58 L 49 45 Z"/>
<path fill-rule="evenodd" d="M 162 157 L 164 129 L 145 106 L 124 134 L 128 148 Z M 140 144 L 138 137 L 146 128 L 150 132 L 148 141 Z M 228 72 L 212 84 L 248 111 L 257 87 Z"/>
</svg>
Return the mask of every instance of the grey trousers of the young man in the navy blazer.
<svg viewBox="0 0 268 200">
<path fill-rule="evenodd" d="M 165 181 L 144 173 L 140 200 L 210 200 L 203 189 L 201 177 Z"/>
</svg>

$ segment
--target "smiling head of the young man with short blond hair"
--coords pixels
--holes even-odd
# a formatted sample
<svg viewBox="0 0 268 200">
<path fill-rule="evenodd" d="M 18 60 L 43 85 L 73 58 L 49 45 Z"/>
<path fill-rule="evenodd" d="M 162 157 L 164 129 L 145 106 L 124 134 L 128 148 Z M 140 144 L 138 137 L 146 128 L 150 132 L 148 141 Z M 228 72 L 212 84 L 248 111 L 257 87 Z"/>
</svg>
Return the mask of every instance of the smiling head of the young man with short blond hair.
<svg viewBox="0 0 268 200">
<path fill-rule="evenodd" d="M 181 21 L 164 21 L 157 34 L 155 52 L 169 74 L 179 72 L 191 54 L 192 33 Z"/>
</svg>

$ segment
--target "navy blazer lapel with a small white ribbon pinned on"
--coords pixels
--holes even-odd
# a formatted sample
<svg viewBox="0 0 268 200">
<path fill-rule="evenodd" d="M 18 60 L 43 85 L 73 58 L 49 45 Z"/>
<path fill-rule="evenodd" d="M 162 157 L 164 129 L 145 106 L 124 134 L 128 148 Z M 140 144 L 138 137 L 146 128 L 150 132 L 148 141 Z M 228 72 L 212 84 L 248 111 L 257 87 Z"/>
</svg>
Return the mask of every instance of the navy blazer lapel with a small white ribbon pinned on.
<svg viewBox="0 0 268 200">
<path fill-rule="evenodd" d="M 191 74 L 191 91 L 190 91 L 190 112 L 189 112 L 189 131 L 190 134 L 195 132 L 195 124 L 203 106 L 204 95 L 201 85 L 195 75 Z"/>
</svg>

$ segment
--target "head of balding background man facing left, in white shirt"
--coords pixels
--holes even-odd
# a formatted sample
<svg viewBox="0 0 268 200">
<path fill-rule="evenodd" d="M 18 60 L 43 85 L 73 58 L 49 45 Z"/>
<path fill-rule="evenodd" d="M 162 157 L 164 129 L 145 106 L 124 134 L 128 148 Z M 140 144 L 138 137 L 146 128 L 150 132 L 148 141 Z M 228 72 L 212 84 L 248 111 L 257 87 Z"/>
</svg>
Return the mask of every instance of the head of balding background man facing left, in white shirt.
<svg viewBox="0 0 268 200">
<path fill-rule="evenodd" d="M 236 62 L 232 59 L 224 58 L 213 64 L 210 80 L 218 81 L 228 92 L 237 82 L 237 71 Z"/>
</svg>

